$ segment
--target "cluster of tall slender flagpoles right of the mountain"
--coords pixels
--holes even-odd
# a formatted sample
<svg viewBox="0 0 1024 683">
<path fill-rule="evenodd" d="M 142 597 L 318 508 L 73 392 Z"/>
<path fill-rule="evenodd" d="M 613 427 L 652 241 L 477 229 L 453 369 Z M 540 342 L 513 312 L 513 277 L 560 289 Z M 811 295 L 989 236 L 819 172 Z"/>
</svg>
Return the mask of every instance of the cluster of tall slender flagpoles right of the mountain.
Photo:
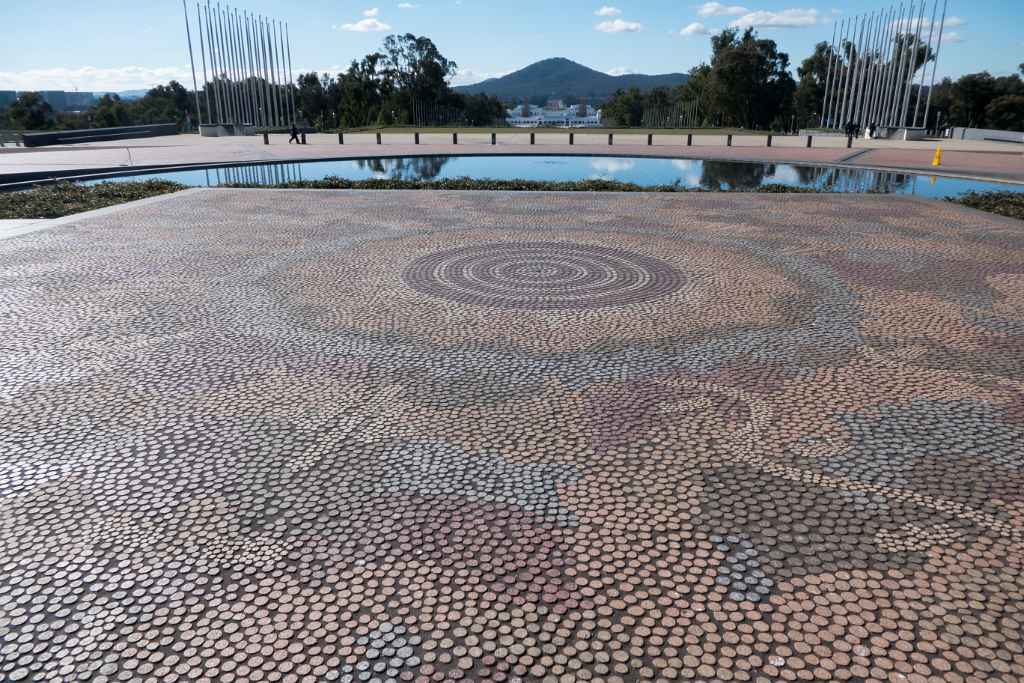
<svg viewBox="0 0 1024 683">
<path fill-rule="evenodd" d="M 927 128 L 948 1 L 941 0 L 942 18 L 938 23 L 940 0 L 909 0 L 907 6 L 900 2 L 843 18 L 834 26 L 820 125 L 833 129 L 844 129 L 848 124 L 860 129 L 871 124 Z"/>
</svg>

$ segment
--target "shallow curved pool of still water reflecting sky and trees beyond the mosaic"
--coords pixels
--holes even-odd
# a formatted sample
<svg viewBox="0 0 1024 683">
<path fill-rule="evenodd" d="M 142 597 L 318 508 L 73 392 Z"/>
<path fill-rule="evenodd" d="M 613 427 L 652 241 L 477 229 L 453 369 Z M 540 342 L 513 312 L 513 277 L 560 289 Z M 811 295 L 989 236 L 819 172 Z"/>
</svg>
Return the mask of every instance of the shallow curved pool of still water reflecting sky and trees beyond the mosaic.
<svg viewBox="0 0 1024 683">
<path fill-rule="evenodd" d="M 837 169 L 799 164 L 763 164 L 693 159 L 627 157 L 406 157 L 348 161 L 314 161 L 261 164 L 229 168 L 168 171 L 106 179 L 164 178 L 186 185 L 216 186 L 227 183 L 274 184 L 337 176 L 352 180 L 370 178 L 439 180 L 489 178 L 497 180 L 585 180 L 600 178 L 638 185 L 678 183 L 706 189 L 752 189 L 778 183 L 817 187 L 829 191 L 887 191 L 923 197 L 948 197 L 969 190 L 1024 191 L 1024 185 L 980 182 L 957 178 L 932 178 L 867 169 Z M 95 181 L 92 181 L 95 182 Z"/>
</svg>

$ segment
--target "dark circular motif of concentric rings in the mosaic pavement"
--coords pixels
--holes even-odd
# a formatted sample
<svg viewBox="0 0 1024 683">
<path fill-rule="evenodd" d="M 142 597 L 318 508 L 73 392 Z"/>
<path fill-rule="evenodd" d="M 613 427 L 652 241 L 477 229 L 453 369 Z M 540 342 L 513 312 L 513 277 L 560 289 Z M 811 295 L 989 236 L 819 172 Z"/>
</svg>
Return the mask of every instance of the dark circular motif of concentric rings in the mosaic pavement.
<svg viewBox="0 0 1024 683">
<path fill-rule="evenodd" d="M 447 249 L 402 273 L 423 294 L 506 309 L 601 308 L 667 296 L 685 282 L 665 261 L 563 242 L 513 242 Z"/>
</svg>

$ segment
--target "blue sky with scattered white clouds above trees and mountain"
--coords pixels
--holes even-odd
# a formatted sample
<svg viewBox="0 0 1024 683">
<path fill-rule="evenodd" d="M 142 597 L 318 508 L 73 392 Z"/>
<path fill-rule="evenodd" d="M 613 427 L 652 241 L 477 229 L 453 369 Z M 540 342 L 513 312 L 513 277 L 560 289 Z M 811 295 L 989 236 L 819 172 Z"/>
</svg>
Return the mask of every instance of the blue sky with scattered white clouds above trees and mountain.
<svg viewBox="0 0 1024 683">
<path fill-rule="evenodd" d="M 951 0 L 955 26 L 947 28 L 952 40 L 944 41 L 939 77 L 1016 72 L 1024 61 L 1020 2 Z M 180 1 L 48 0 L 45 13 L 53 20 L 40 20 L 37 2 L 0 5 L 0 89 L 133 89 L 171 78 L 190 87 Z M 861 0 L 823 5 L 799 0 L 246 0 L 237 6 L 289 22 L 296 71 L 341 70 L 377 49 L 389 33 L 411 32 L 429 36 L 459 63 L 457 83 L 472 83 L 550 56 L 613 74 L 685 72 L 708 58 L 707 34 L 730 24 L 753 24 L 776 40 L 795 69 L 815 42 L 831 38 L 835 19 L 887 5 Z M 193 18 L 195 7 L 190 0 Z"/>
</svg>

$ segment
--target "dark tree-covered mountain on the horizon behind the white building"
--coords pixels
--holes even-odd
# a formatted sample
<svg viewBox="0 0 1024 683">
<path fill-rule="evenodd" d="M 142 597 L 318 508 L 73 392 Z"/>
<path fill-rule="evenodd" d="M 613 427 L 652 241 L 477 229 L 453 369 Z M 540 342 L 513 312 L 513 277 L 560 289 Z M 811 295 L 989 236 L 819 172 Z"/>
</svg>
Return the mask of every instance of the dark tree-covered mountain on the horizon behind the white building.
<svg viewBox="0 0 1024 683">
<path fill-rule="evenodd" d="M 554 57 L 543 59 L 501 78 L 488 78 L 473 85 L 455 88 L 459 92 L 476 94 L 484 92 L 502 99 L 522 99 L 535 95 L 548 97 L 587 97 L 600 101 L 610 97 L 620 88 L 650 90 L 656 87 L 675 87 L 686 83 L 686 74 L 660 74 L 645 76 L 627 74 L 608 76 L 571 59 Z"/>
</svg>

